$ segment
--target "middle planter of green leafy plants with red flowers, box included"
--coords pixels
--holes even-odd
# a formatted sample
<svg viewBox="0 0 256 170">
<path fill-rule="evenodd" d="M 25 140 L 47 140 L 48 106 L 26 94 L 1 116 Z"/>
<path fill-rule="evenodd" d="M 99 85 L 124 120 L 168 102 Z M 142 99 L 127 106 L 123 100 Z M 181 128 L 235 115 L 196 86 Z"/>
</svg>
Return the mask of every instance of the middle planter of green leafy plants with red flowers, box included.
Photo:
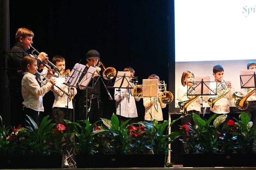
<svg viewBox="0 0 256 170">
<path fill-rule="evenodd" d="M 156 120 L 131 125 L 127 125 L 127 120 L 120 124 L 115 114 L 110 120 L 101 120 L 102 126 L 95 126 L 95 123 L 90 125 L 88 121 L 83 121 L 85 127 L 80 123 L 71 123 L 76 125 L 72 134 L 78 137 L 77 143 L 90 141 L 94 148 L 94 152 L 76 155 L 78 168 L 164 167 L 168 145 L 182 135 L 182 130 L 166 135 L 168 128 L 178 119 L 170 125 L 168 121 L 158 124 Z M 77 127 L 86 129 L 88 133 L 79 132 Z M 78 145 L 78 153 L 81 147 Z M 131 164 L 137 159 L 140 160 L 138 163 Z"/>
</svg>

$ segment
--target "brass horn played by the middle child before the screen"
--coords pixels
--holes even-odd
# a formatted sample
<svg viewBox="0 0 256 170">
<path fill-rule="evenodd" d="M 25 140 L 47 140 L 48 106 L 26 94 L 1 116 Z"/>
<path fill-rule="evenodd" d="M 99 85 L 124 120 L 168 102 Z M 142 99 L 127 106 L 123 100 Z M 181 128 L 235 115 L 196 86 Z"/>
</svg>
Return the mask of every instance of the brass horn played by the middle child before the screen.
<svg viewBox="0 0 256 170">
<path fill-rule="evenodd" d="M 231 86 L 228 86 L 226 81 L 221 82 L 216 89 L 217 96 L 213 98 L 209 98 L 207 101 L 210 107 L 213 108 L 215 102 L 217 102 L 219 99 L 223 98 L 226 94 L 228 94 L 230 88 Z"/>
</svg>

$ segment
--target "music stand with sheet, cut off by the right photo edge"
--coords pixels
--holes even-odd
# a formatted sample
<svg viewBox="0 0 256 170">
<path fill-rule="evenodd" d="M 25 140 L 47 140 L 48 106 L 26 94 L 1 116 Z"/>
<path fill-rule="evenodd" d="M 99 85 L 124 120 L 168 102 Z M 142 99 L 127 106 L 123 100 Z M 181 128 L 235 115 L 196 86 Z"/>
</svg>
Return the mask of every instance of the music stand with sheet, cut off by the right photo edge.
<svg viewBox="0 0 256 170">
<path fill-rule="evenodd" d="M 256 88 L 255 69 L 240 70 L 241 88 Z"/>
</svg>

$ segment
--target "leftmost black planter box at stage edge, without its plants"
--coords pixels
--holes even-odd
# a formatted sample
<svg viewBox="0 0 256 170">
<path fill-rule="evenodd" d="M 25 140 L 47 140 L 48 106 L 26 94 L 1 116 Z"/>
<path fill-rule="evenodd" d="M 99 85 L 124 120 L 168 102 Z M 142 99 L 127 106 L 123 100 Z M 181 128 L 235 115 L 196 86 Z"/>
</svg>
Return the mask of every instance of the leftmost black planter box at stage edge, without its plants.
<svg viewBox="0 0 256 170">
<path fill-rule="evenodd" d="M 62 155 L 0 156 L 0 169 L 61 168 Z"/>
</svg>

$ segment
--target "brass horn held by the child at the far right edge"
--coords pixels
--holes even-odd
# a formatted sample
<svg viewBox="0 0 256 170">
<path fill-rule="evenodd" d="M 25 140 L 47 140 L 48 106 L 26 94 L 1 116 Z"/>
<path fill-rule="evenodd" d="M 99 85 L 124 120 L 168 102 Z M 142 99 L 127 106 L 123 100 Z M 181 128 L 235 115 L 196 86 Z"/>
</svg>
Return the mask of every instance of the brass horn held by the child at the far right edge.
<svg viewBox="0 0 256 170">
<path fill-rule="evenodd" d="M 247 94 L 243 95 L 241 92 L 234 92 L 232 96 L 232 100 L 234 105 L 240 109 L 240 110 L 245 110 L 248 107 L 248 101 L 247 98 L 250 97 L 255 91 L 256 88 L 251 90 L 251 88 L 247 89 Z"/>
</svg>

